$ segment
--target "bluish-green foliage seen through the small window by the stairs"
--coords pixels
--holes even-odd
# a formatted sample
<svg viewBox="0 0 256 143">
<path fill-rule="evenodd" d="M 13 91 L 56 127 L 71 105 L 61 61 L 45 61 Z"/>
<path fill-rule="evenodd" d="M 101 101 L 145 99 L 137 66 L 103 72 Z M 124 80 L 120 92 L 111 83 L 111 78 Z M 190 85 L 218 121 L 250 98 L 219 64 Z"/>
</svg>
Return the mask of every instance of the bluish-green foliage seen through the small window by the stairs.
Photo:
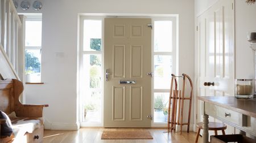
<svg viewBox="0 0 256 143">
<path fill-rule="evenodd" d="M 25 73 L 38 73 L 41 71 L 41 64 L 38 57 L 25 50 Z"/>
</svg>

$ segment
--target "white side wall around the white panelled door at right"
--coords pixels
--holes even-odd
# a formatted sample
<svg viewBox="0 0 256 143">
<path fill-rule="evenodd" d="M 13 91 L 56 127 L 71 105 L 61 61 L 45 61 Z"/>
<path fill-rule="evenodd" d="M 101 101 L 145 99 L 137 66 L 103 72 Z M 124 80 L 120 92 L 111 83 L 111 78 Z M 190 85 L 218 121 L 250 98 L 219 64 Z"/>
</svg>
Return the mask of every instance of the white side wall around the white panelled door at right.
<svg viewBox="0 0 256 143">
<path fill-rule="evenodd" d="M 217 0 L 195 0 L 195 16 L 202 14 L 215 2 Z M 256 30 L 256 4 L 248 5 L 245 0 L 235 0 L 234 5 L 236 79 L 253 79 L 253 53 L 249 48 L 247 32 Z"/>
</svg>

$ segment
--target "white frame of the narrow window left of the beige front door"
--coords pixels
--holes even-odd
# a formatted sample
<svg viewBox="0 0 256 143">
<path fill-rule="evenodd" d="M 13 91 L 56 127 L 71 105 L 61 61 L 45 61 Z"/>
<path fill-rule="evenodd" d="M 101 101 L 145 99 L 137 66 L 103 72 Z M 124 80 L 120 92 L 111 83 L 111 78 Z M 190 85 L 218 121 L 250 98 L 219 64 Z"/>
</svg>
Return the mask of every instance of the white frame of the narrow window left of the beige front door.
<svg viewBox="0 0 256 143">
<path fill-rule="evenodd" d="M 84 45 L 84 20 L 101 20 L 102 21 L 102 25 L 101 25 L 101 51 L 84 51 L 83 49 L 83 45 Z M 101 77 L 104 77 L 104 17 L 103 16 L 83 16 L 83 15 L 80 15 L 80 18 L 79 18 L 79 51 L 78 51 L 78 54 L 79 57 L 79 62 L 78 62 L 78 71 L 79 71 L 79 74 L 77 75 L 77 87 L 79 87 L 78 90 L 78 94 L 79 94 L 79 97 L 78 97 L 78 103 L 79 103 L 79 122 L 80 122 L 80 125 L 81 127 L 103 127 L 103 122 L 104 122 L 104 78 L 102 78 L 101 80 L 101 89 L 100 90 L 97 90 L 99 92 L 101 92 L 101 123 L 93 123 L 93 122 L 82 122 L 82 119 L 83 119 L 83 107 L 82 107 L 82 100 L 80 100 L 81 98 L 81 94 L 80 94 L 80 88 L 82 88 L 82 84 L 80 82 L 80 78 L 82 77 L 82 73 L 81 71 L 83 70 L 83 55 L 85 54 L 100 54 L 101 55 Z"/>
</svg>

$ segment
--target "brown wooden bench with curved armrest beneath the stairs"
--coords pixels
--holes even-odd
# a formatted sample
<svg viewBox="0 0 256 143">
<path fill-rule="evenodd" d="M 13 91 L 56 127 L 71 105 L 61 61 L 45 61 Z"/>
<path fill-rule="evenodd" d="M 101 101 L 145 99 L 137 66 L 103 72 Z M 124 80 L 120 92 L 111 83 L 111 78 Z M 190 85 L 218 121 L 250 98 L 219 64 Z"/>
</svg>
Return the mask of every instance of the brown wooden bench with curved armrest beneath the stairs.
<svg viewBox="0 0 256 143">
<path fill-rule="evenodd" d="M 19 101 L 19 96 L 23 92 L 23 83 L 15 79 L 0 80 L 0 110 L 7 115 L 15 112 L 19 118 L 26 118 L 26 122 L 30 122 L 29 118 L 36 120 L 43 117 L 43 107 L 48 105 L 23 105 Z M 5 123 L 5 120 L 0 120 L 0 124 Z M 1 126 L 0 126 L 1 127 Z M 40 127 L 32 132 L 24 133 L 24 136 L 17 138 L 14 135 L 10 137 L 1 137 L 0 143 L 13 142 L 43 142 L 43 123 Z"/>
</svg>

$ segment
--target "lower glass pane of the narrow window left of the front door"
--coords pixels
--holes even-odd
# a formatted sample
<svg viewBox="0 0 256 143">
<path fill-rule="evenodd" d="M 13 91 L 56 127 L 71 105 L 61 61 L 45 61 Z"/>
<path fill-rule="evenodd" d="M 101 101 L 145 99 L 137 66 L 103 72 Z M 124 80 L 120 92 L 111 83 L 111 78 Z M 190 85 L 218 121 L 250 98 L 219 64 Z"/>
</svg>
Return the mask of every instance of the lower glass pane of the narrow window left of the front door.
<svg viewBox="0 0 256 143">
<path fill-rule="evenodd" d="M 101 55 L 85 54 L 84 89 L 82 92 L 83 122 L 101 122 Z"/>
</svg>

